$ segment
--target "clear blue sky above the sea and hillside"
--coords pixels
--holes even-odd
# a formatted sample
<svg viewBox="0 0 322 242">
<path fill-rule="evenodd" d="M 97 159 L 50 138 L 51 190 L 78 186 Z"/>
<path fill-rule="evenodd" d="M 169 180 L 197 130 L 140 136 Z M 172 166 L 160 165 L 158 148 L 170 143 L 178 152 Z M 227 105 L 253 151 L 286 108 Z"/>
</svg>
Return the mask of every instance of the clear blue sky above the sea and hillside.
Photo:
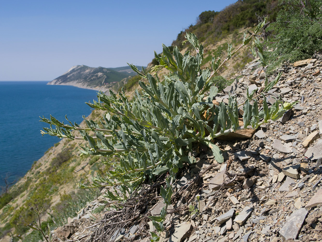
<svg viewBox="0 0 322 242">
<path fill-rule="evenodd" d="M 161 43 L 226 1 L 0 1 L 0 80 L 52 80 L 75 65 L 146 66 Z"/>
</svg>

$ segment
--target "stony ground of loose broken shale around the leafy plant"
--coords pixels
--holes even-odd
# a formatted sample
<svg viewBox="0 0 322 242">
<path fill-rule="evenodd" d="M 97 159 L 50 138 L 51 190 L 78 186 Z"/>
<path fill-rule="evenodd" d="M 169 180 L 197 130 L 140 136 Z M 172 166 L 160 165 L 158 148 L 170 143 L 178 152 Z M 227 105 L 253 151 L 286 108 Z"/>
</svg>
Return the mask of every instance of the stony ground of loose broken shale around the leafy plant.
<svg viewBox="0 0 322 242">
<path fill-rule="evenodd" d="M 322 55 L 281 69 L 282 78 L 267 101 L 272 104 L 280 97 L 299 103 L 278 121 L 225 137 L 218 143 L 225 152 L 224 163 L 218 164 L 205 147 L 196 147 L 198 162 L 178 176 L 174 208 L 169 207 L 159 241 L 321 241 L 320 70 Z M 247 86 L 261 91 L 265 68 L 253 62 L 242 75 L 216 101 L 227 102 L 230 92 L 242 103 Z M 108 231 L 102 231 L 111 211 L 94 213 L 111 203 L 104 192 L 106 188 L 77 217 L 69 218 L 69 224 L 52 231 L 54 241 L 150 241 L 148 231 L 154 227 L 143 218 L 159 214 L 161 198 L 154 197 L 136 219 L 116 220 L 115 226 L 122 226 L 108 238 Z"/>
</svg>

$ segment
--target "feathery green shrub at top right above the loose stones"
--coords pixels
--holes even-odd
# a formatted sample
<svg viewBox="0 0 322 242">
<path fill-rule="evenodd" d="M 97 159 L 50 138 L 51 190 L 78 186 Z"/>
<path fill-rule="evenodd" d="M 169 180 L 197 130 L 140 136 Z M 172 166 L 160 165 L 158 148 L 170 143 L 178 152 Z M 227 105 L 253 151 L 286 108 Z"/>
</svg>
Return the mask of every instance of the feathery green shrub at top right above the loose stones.
<svg viewBox="0 0 322 242">
<path fill-rule="evenodd" d="M 304 2 L 304 3 L 303 3 Z M 275 23 L 266 28 L 272 31 L 266 42 L 266 57 L 271 63 L 268 74 L 284 62 L 312 57 L 322 50 L 322 0 L 283 0 Z"/>
</svg>

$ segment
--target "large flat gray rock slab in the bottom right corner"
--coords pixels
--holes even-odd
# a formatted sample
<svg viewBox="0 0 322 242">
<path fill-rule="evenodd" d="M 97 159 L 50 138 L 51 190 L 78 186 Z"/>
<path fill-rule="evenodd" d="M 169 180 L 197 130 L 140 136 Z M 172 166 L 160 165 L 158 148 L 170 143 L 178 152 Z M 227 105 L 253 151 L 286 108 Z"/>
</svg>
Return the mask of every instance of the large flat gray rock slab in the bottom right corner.
<svg viewBox="0 0 322 242">
<path fill-rule="evenodd" d="M 307 214 L 308 211 L 305 208 L 300 208 L 293 212 L 284 226 L 279 230 L 281 237 L 285 240 L 296 239 Z"/>
</svg>

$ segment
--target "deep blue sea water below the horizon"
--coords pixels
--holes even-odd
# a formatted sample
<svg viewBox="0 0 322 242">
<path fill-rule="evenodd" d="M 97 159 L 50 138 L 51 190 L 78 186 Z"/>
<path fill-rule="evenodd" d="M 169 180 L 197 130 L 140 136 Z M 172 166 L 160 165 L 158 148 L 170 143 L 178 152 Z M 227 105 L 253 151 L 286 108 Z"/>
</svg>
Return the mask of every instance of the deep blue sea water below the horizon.
<svg viewBox="0 0 322 242">
<path fill-rule="evenodd" d="M 33 162 L 55 143 L 58 137 L 40 134 L 39 116 L 50 115 L 60 121 L 81 123 L 91 108 L 85 102 L 96 99 L 96 91 L 74 86 L 46 85 L 45 81 L 0 81 L 0 187 L 6 174 L 18 179 Z M 1 194 L 1 190 L 0 190 Z"/>
</svg>

